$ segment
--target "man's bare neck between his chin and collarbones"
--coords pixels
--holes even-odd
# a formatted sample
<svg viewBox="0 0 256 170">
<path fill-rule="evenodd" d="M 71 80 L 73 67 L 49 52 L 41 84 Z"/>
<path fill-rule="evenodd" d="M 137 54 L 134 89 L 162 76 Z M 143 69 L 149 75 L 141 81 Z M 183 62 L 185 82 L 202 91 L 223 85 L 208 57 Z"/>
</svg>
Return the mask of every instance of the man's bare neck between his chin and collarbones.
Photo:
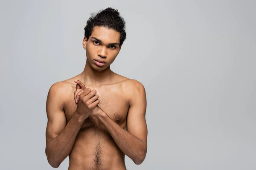
<svg viewBox="0 0 256 170">
<path fill-rule="evenodd" d="M 113 71 L 110 67 L 103 71 L 94 70 L 89 62 L 86 60 L 84 71 L 80 74 L 81 81 L 85 85 L 99 86 L 102 84 L 110 84 L 113 78 Z"/>
</svg>

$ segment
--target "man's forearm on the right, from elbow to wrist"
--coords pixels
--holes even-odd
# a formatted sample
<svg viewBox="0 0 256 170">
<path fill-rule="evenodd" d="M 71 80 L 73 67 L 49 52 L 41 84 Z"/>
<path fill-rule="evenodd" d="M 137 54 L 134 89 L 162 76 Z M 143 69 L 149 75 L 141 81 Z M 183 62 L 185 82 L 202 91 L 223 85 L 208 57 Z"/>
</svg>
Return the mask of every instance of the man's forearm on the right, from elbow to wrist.
<svg viewBox="0 0 256 170">
<path fill-rule="evenodd" d="M 116 124 L 105 112 L 97 117 L 111 134 L 120 150 L 131 158 L 135 164 L 141 164 L 145 159 L 146 144 Z"/>
</svg>

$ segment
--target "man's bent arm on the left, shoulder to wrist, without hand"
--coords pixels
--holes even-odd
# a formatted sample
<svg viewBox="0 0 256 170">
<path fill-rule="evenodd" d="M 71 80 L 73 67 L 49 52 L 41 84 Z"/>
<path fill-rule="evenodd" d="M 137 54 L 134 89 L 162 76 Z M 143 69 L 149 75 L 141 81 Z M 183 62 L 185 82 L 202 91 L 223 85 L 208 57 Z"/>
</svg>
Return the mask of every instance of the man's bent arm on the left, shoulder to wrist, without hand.
<svg viewBox="0 0 256 170">
<path fill-rule="evenodd" d="M 76 112 L 66 125 L 64 105 L 64 82 L 57 82 L 49 89 L 46 103 L 47 128 L 45 153 L 49 164 L 57 168 L 70 154 L 76 136 L 84 122 Z"/>
</svg>

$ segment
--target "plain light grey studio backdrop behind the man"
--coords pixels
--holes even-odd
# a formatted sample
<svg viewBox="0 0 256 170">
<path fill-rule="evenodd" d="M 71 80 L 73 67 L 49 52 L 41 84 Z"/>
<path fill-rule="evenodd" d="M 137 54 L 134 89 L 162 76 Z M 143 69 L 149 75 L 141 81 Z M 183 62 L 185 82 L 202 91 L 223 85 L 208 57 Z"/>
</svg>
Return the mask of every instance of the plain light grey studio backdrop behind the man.
<svg viewBox="0 0 256 170">
<path fill-rule="evenodd" d="M 53 169 L 48 90 L 83 71 L 83 28 L 108 6 L 127 24 L 111 68 L 148 100 L 148 153 L 128 170 L 255 170 L 253 0 L 1 0 L 0 169 Z"/>
</svg>

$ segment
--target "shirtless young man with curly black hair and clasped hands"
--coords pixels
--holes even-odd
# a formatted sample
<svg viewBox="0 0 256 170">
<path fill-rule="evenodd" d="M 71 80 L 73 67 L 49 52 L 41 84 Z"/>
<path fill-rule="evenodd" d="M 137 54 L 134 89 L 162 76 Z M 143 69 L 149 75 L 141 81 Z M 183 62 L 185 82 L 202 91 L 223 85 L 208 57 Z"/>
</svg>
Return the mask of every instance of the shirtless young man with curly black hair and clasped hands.
<svg viewBox="0 0 256 170">
<path fill-rule="evenodd" d="M 145 159 L 148 131 L 143 85 L 110 69 L 125 22 L 107 8 L 84 30 L 84 71 L 53 84 L 47 96 L 47 160 L 57 168 L 69 156 L 69 170 L 126 170 L 125 155 L 135 164 Z"/>
</svg>

